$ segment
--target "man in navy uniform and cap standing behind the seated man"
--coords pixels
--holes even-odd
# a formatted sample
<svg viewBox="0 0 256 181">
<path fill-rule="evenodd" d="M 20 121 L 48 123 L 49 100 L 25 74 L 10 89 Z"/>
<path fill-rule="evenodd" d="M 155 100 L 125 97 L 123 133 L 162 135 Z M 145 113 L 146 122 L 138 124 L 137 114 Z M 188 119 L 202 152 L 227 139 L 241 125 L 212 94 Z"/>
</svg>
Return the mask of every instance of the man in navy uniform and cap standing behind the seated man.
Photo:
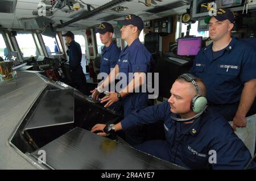
<svg viewBox="0 0 256 181">
<path fill-rule="evenodd" d="M 252 106 L 256 52 L 231 36 L 234 16 L 230 10 L 218 9 L 217 15 L 208 16 L 205 23 L 209 23 L 213 43 L 200 50 L 189 73 L 204 80 L 209 105 L 228 121 L 233 120 L 234 130 L 246 127 L 246 116 L 256 113 L 256 106 Z"/>
</svg>

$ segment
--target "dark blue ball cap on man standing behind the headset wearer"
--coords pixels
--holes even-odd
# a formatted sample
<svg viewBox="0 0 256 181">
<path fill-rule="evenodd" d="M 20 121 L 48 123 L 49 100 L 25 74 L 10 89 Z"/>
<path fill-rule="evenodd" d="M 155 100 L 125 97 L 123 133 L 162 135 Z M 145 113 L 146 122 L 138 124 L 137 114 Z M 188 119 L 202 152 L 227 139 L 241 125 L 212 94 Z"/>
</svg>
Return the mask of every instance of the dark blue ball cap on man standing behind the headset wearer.
<svg viewBox="0 0 256 181">
<path fill-rule="evenodd" d="M 228 19 L 231 23 L 234 23 L 234 15 L 233 12 L 230 11 L 229 9 L 217 9 L 216 15 L 213 15 L 214 18 L 216 18 L 219 21 L 224 21 L 226 19 Z M 209 24 L 210 22 L 210 18 L 212 18 L 213 16 L 207 16 L 204 19 L 204 22 Z"/>
</svg>

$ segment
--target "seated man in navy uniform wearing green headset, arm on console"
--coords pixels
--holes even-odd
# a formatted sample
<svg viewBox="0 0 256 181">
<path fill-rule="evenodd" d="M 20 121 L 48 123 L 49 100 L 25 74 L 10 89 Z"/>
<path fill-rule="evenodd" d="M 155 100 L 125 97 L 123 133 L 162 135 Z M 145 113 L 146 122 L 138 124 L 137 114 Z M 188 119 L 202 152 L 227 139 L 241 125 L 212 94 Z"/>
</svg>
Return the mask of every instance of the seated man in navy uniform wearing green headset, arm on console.
<svg viewBox="0 0 256 181">
<path fill-rule="evenodd" d="M 96 124 L 92 132 L 106 136 L 113 131 L 164 120 L 166 140 L 147 141 L 135 146 L 188 169 L 255 169 L 249 150 L 234 134 L 228 122 L 210 108 L 206 88 L 191 74 L 180 75 L 171 88 L 168 102 L 132 112 L 113 125 Z"/>
</svg>

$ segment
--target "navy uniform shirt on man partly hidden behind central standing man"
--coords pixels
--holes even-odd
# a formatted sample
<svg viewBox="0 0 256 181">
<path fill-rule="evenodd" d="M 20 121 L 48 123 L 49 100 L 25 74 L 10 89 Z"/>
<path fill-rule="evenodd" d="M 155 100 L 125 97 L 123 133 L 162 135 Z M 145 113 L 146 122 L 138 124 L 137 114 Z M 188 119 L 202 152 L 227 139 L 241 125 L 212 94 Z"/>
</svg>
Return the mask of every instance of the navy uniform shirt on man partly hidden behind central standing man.
<svg viewBox="0 0 256 181">
<path fill-rule="evenodd" d="M 114 44 L 113 41 L 109 45 L 109 47 L 105 46 L 102 49 L 100 72 L 109 74 L 110 69 L 114 68 L 115 65 L 117 64 L 119 54 L 120 54 L 120 49 L 117 47 L 117 45 Z"/>
</svg>

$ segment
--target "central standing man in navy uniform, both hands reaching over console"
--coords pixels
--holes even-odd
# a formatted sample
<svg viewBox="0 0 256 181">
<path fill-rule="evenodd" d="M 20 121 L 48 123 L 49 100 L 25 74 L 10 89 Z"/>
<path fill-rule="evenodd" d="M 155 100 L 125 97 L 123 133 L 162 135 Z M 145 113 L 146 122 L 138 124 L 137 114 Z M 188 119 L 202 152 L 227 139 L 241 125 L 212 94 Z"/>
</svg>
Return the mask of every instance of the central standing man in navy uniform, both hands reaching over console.
<svg viewBox="0 0 256 181">
<path fill-rule="evenodd" d="M 141 110 L 147 107 L 147 92 L 134 92 L 146 83 L 146 73 L 150 70 L 151 54 L 139 41 L 139 33 L 144 28 L 141 18 L 137 15 L 129 14 L 125 20 L 118 21 L 121 26 L 121 38 L 127 42 L 127 47 L 122 50 L 118 58 L 117 65 L 110 72 L 108 78 L 97 87 L 103 90 L 106 85 L 114 82 L 115 75 L 123 73 L 126 75 L 126 86 L 121 86 L 121 91 L 110 92 L 108 96 L 102 98 L 102 103 L 107 102 L 105 107 L 112 105 L 118 100 L 122 100 L 123 115 L 126 117 L 134 110 Z M 129 77 L 129 73 L 134 75 Z M 98 91 L 93 91 L 98 94 Z M 131 145 L 140 144 L 144 141 L 143 128 L 130 129 L 125 132 L 126 141 Z"/>
</svg>

